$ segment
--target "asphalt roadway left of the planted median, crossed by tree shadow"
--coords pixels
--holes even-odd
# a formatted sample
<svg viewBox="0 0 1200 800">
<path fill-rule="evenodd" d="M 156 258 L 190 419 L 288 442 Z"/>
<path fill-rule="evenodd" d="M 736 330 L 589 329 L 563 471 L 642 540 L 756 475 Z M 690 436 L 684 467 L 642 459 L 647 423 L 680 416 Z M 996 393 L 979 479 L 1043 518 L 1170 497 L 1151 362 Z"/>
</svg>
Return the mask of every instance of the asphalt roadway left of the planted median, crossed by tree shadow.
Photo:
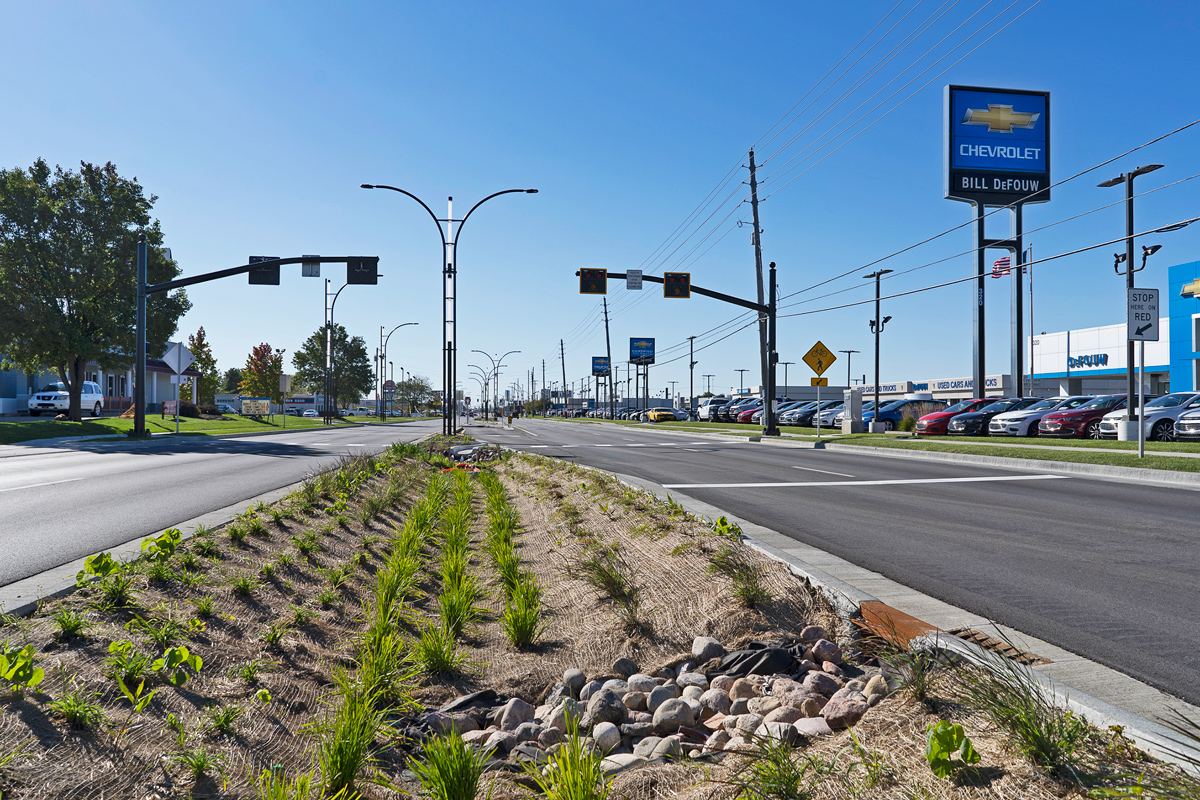
<svg viewBox="0 0 1200 800">
<path fill-rule="evenodd" d="M 269 437 L 5 447 L 0 585 L 223 509 L 338 458 L 440 429 L 440 420 Z"/>
</svg>

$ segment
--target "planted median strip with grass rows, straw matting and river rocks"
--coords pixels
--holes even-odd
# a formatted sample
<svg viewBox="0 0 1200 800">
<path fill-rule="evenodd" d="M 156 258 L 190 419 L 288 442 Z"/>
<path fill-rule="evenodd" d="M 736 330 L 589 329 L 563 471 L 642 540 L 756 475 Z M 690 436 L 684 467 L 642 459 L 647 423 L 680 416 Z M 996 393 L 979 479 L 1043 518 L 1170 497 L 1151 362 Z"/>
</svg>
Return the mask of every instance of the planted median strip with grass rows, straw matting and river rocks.
<svg viewBox="0 0 1200 800">
<path fill-rule="evenodd" d="M 725 518 L 552 458 L 474 473 L 433 449 L 346 458 L 130 565 L 100 554 L 79 591 L 6 618 L 5 796 L 1198 788 L 1002 663 L 863 638 Z"/>
</svg>

